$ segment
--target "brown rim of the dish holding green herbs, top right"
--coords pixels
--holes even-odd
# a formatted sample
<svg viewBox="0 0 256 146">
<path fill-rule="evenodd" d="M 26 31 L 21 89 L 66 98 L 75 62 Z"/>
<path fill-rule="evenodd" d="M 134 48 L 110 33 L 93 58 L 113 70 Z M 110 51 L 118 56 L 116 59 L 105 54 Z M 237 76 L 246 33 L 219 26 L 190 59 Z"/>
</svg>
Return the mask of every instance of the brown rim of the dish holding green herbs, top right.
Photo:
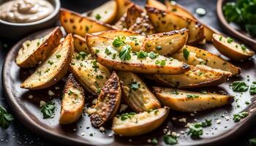
<svg viewBox="0 0 256 146">
<path fill-rule="evenodd" d="M 245 45 L 251 47 L 253 50 L 256 50 L 256 39 L 249 36 L 246 31 L 242 30 L 239 26 L 236 26 L 234 23 L 227 23 L 225 16 L 222 12 L 222 7 L 227 2 L 227 0 L 218 0 L 217 1 L 217 16 L 219 22 L 222 24 L 222 27 L 227 31 L 227 34 L 235 37 L 236 39 L 243 42 Z"/>
</svg>

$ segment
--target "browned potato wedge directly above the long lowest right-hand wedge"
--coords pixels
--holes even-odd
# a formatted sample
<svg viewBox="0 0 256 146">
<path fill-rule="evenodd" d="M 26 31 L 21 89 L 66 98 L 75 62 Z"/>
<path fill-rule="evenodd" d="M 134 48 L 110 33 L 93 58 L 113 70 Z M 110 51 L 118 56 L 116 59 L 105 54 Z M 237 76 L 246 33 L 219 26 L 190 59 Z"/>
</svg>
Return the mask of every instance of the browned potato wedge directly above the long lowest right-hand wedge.
<svg viewBox="0 0 256 146">
<path fill-rule="evenodd" d="M 219 85 L 227 81 L 230 74 L 190 66 L 190 70 L 184 72 L 183 74 L 154 74 L 153 77 L 155 80 L 157 80 L 157 82 L 171 88 L 197 88 L 210 85 Z"/>
</svg>

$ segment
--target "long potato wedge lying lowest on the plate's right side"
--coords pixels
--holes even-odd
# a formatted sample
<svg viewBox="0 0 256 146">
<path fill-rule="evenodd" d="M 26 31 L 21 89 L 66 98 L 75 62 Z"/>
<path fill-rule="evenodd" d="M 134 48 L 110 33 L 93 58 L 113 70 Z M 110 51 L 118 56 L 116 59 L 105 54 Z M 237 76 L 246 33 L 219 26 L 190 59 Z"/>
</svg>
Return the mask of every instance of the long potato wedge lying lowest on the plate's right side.
<svg viewBox="0 0 256 146">
<path fill-rule="evenodd" d="M 157 99 L 172 110 L 195 112 L 222 107 L 233 101 L 233 96 L 216 93 L 197 93 L 172 88 L 154 87 Z"/>
</svg>

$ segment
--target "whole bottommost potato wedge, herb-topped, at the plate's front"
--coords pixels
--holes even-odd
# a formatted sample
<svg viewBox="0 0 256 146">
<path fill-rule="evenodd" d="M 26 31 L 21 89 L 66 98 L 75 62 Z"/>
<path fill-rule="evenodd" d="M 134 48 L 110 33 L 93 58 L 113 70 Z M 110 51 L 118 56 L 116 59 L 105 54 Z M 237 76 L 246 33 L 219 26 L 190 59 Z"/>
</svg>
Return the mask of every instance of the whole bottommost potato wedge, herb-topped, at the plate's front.
<svg viewBox="0 0 256 146">
<path fill-rule="evenodd" d="M 168 113 L 169 107 L 139 114 L 126 113 L 113 119 L 112 130 L 115 134 L 125 137 L 146 134 L 162 125 Z"/>
</svg>

